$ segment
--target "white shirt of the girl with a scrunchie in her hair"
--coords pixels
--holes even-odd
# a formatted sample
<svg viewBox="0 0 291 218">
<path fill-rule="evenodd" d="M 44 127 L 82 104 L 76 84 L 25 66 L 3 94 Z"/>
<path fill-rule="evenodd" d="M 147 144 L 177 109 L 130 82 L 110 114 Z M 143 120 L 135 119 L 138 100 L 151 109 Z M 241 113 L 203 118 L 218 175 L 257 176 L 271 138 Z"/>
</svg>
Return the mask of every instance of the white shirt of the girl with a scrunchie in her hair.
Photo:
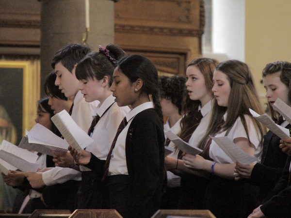
<svg viewBox="0 0 291 218">
<path fill-rule="evenodd" d="M 91 138 L 94 142 L 86 147 L 86 151 L 91 152 L 101 160 L 106 160 L 118 126 L 130 110 L 128 106 L 118 107 L 114 103 L 114 99 L 113 95 L 108 96 L 102 105 L 100 106 L 99 104 L 95 110 L 94 116 L 99 115 L 100 120 L 91 133 Z M 80 170 L 90 171 L 87 167 L 83 166 L 80 166 Z"/>
</svg>

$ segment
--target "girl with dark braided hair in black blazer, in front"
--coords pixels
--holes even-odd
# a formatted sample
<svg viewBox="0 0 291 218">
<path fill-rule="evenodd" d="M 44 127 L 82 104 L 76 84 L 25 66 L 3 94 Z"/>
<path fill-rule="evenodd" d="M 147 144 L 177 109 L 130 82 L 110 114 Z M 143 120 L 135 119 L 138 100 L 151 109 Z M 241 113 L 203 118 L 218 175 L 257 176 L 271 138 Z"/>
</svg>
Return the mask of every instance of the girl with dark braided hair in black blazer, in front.
<svg viewBox="0 0 291 218">
<path fill-rule="evenodd" d="M 117 130 L 106 161 L 77 155 L 72 148 L 71 154 L 78 164 L 103 174 L 104 209 L 116 209 L 123 218 L 150 218 L 160 207 L 164 181 L 158 71 L 146 57 L 128 56 L 117 64 L 110 90 L 119 107 L 131 110 Z"/>
</svg>

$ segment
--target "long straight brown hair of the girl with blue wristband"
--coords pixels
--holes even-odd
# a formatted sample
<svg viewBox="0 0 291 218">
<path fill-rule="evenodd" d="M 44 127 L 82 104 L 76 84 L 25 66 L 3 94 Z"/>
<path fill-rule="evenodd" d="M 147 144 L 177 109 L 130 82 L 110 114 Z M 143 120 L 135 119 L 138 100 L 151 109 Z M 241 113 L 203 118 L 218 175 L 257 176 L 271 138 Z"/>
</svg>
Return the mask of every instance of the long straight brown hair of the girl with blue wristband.
<svg viewBox="0 0 291 218">
<path fill-rule="evenodd" d="M 216 70 L 219 70 L 226 74 L 231 91 L 228 98 L 228 107 L 222 107 L 217 104 L 215 101 L 212 108 L 212 114 L 210 118 L 210 125 L 203 139 L 199 142 L 198 147 L 204 148 L 206 142 L 209 139 L 209 135 L 212 135 L 221 122 L 223 115 L 227 110 L 228 116 L 224 125 L 222 125 L 221 132 L 226 131 L 226 135 L 229 133 L 231 127 L 234 125 L 236 120 L 240 117 L 242 120 L 242 125 L 246 131 L 247 138 L 249 139 L 249 133 L 247 124 L 245 122 L 244 115 L 248 115 L 249 118 L 254 123 L 257 132 L 263 139 L 263 135 L 266 132 L 265 127 L 259 123 L 250 113 L 249 109 L 253 109 L 259 114 L 263 114 L 263 109 L 259 102 L 258 93 L 254 85 L 254 79 L 251 74 L 251 71 L 246 63 L 240 62 L 237 60 L 229 60 L 221 62 L 217 65 Z"/>
</svg>

